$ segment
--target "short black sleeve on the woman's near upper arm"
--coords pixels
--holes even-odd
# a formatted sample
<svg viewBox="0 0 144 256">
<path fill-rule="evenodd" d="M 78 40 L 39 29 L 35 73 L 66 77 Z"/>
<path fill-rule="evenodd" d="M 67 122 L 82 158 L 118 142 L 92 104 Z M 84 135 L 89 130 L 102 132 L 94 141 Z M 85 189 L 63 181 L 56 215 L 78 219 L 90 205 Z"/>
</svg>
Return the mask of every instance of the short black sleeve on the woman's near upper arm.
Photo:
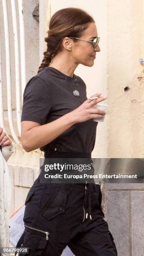
<svg viewBox="0 0 144 256">
<path fill-rule="evenodd" d="M 40 77 L 32 77 L 25 87 L 21 121 L 45 124 L 51 108 L 48 84 Z"/>
</svg>

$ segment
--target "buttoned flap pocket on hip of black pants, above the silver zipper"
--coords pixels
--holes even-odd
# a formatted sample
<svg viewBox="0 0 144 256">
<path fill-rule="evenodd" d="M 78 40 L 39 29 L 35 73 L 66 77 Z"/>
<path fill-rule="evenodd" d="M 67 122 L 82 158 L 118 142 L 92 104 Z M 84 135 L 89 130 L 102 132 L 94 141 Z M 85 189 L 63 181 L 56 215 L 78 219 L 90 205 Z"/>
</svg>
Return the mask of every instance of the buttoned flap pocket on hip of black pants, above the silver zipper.
<svg viewBox="0 0 144 256">
<path fill-rule="evenodd" d="M 47 220 L 51 220 L 62 212 L 65 212 L 66 200 L 67 193 L 57 187 L 48 202 L 42 208 L 42 215 Z"/>
</svg>

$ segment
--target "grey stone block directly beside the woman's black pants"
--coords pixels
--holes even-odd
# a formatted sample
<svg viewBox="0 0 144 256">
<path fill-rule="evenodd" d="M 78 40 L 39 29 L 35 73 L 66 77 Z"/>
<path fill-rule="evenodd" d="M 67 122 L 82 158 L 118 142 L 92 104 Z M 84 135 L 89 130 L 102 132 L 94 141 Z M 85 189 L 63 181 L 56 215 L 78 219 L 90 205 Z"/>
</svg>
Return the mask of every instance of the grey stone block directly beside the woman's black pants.
<svg viewBox="0 0 144 256">
<path fill-rule="evenodd" d="M 105 192 L 105 215 L 119 256 L 129 255 L 129 192 Z"/>
</svg>

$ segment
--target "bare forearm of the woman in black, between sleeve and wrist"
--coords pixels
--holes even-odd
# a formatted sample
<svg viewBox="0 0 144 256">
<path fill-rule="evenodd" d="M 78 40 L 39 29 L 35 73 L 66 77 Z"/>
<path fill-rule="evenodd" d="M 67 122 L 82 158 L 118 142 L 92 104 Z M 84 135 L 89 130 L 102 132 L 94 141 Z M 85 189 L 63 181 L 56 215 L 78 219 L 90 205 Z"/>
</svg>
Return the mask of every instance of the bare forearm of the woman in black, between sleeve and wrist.
<svg viewBox="0 0 144 256">
<path fill-rule="evenodd" d="M 27 152 L 45 146 L 60 136 L 60 134 L 65 132 L 72 125 L 74 125 L 74 121 L 72 120 L 70 113 L 68 113 L 51 123 L 30 128 L 21 136 L 22 146 Z"/>
</svg>

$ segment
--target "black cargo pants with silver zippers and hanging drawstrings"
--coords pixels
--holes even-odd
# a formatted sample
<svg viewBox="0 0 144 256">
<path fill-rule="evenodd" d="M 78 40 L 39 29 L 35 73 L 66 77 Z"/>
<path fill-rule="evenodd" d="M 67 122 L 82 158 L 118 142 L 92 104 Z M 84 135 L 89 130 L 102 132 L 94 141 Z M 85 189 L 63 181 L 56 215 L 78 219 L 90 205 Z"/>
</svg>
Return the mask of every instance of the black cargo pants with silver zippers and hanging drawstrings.
<svg viewBox="0 0 144 256">
<path fill-rule="evenodd" d="M 22 247 L 29 254 L 60 256 L 69 246 L 75 256 L 117 256 L 101 210 L 98 184 L 42 184 L 39 178 L 25 204 Z"/>
</svg>

